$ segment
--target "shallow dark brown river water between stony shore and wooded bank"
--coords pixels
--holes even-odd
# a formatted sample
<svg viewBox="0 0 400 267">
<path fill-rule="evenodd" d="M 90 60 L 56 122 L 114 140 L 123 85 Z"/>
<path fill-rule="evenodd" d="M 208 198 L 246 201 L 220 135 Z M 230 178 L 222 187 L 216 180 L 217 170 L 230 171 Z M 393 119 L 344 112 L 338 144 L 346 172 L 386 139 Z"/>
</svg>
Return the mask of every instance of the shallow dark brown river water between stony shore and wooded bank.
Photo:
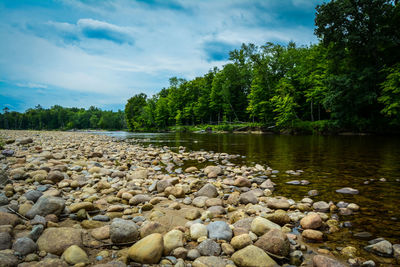
<svg viewBox="0 0 400 267">
<path fill-rule="evenodd" d="M 400 243 L 400 138 L 381 136 L 286 136 L 257 134 L 195 134 L 195 133 L 127 133 L 103 134 L 133 138 L 144 145 L 184 146 L 188 150 L 226 152 L 243 156 L 247 165 L 264 164 L 279 170 L 272 180 L 277 184 L 274 194 L 296 201 L 316 189 L 315 201 L 343 200 L 357 203 L 361 211 L 342 216 L 351 226 L 329 237 L 332 246 L 353 245 L 360 249 L 367 241 L 384 237 Z M 303 170 L 301 176 L 286 170 Z M 380 181 L 384 178 L 386 181 Z M 291 180 L 306 179 L 307 186 L 287 185 Z M 368 182 L 368 184 L 365 184 Z M 358 195 L 343 195 L 335 190 L 352 187 Z M 369 232 L 367 239 L 354 233 Z"/>
</svg>

